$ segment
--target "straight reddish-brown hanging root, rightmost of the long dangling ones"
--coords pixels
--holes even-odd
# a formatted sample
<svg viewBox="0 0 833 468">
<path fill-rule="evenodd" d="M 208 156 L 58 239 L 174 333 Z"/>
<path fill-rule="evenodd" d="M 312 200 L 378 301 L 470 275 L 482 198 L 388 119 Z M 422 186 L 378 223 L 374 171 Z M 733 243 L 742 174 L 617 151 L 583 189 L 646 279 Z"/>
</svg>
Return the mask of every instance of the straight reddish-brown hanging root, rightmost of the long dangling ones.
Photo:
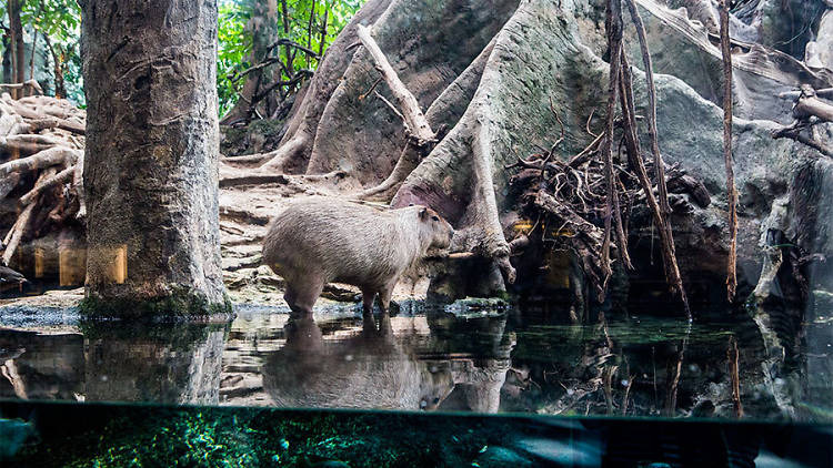
<svg viewBox="0 0 833 468">
<path fill-rule="evenodd" d="M 729 43 L 729 1 L 720 1 L 720 45 L 723 53 L 723 159 L 726 164 L 726 197 L 729 199 L 729 261 L 726 265 L 726 298 L 734 301 L 737 288 L 737 191 L 732 166 L 732 50 Z"/>
</svg>

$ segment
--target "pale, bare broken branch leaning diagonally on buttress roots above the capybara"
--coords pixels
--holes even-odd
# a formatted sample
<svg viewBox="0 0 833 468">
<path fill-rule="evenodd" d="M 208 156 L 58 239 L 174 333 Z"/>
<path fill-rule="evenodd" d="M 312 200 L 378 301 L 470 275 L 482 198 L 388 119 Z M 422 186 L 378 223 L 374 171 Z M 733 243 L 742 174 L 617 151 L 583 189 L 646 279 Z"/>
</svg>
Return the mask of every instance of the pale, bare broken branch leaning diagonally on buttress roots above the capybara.
<svg viewBox="0 0 833 468">
<path fill-rule="evenodd" d="M 405 121 L 405 132 L 412 139 L 415 139 L 419 145 L 435 141 L 436 136 L 431 130 L 431 125 L 429 125 L 428 119 L 425 119 L 422 110 L 420 110 L 420 104 L 419 102 L 416 102 L 416 98 L 414 98 L 413 94 L 408 91 L 408 88 L 405 88 L 405 85 L 399 79 L 399 75 L 393 70 L 393 67 L 391 67 L 390 62 L 388 62 L 388 59 L 384 57 L 384 53 L 382 53 L 382 50 L 379 49 L 379 45 L 370 35 L 370 29 L 362 24 L 359 24 L 359 27 L 357 28 L 357 34 L 362 41 L 364 48 L 373 58 L 377 68 L 382 73 L 382 78 L 384 78 L 385 83 L 388 83 L 388 88 L 397 99 L 403 119 Z"/>
</svg>

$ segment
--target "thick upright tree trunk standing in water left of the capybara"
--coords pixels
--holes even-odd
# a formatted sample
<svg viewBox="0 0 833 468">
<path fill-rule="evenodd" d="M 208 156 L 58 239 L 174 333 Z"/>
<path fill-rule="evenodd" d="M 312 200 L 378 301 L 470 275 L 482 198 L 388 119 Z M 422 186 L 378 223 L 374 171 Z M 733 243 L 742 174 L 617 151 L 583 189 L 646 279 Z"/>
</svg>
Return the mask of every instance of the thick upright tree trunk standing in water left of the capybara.
<svg viewBox="0 0 833 468">
<path fill-rule="evenodd" d="M 87 297 L 104 315 L 228 313 L 217 2 L 84 0 Z"/>
</svg>

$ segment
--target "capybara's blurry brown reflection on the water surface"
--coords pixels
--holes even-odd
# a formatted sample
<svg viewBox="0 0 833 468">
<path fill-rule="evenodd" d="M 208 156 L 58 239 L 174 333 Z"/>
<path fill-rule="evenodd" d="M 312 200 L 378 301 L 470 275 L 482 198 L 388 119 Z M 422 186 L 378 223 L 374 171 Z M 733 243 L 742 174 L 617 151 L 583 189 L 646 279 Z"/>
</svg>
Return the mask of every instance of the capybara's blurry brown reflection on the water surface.
<svg viewBox="0 0 833 468">
<path fill-rule="evenodd" d="M 262 368 L 263 388 L 280 407 L 435 409 L 454 388 L 448 365 L 420 360 L 399 343 L 387 314 L 374 329 L 324 340 L 311 318 L 290 319 L 287 345 Z"/>
</svg>

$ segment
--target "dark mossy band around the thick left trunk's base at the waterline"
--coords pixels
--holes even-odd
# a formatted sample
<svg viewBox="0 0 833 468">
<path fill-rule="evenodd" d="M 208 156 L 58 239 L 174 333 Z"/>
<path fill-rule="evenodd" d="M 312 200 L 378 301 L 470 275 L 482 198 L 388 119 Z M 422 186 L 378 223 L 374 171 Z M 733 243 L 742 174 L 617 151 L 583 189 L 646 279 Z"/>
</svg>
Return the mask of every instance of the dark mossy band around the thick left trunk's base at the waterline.
<svg viewBox="0 0 833 468">
<path fill-rule="evenodd" d="M 221 303 L 209 302 L 205 294 L 189 287 L 173 287 L 167 296 L 154 298 L 88 295 L 78 305 L 88 318 L 204 317 L 231 314 L 231 299 L 223 293 Z"/>
</svg>

